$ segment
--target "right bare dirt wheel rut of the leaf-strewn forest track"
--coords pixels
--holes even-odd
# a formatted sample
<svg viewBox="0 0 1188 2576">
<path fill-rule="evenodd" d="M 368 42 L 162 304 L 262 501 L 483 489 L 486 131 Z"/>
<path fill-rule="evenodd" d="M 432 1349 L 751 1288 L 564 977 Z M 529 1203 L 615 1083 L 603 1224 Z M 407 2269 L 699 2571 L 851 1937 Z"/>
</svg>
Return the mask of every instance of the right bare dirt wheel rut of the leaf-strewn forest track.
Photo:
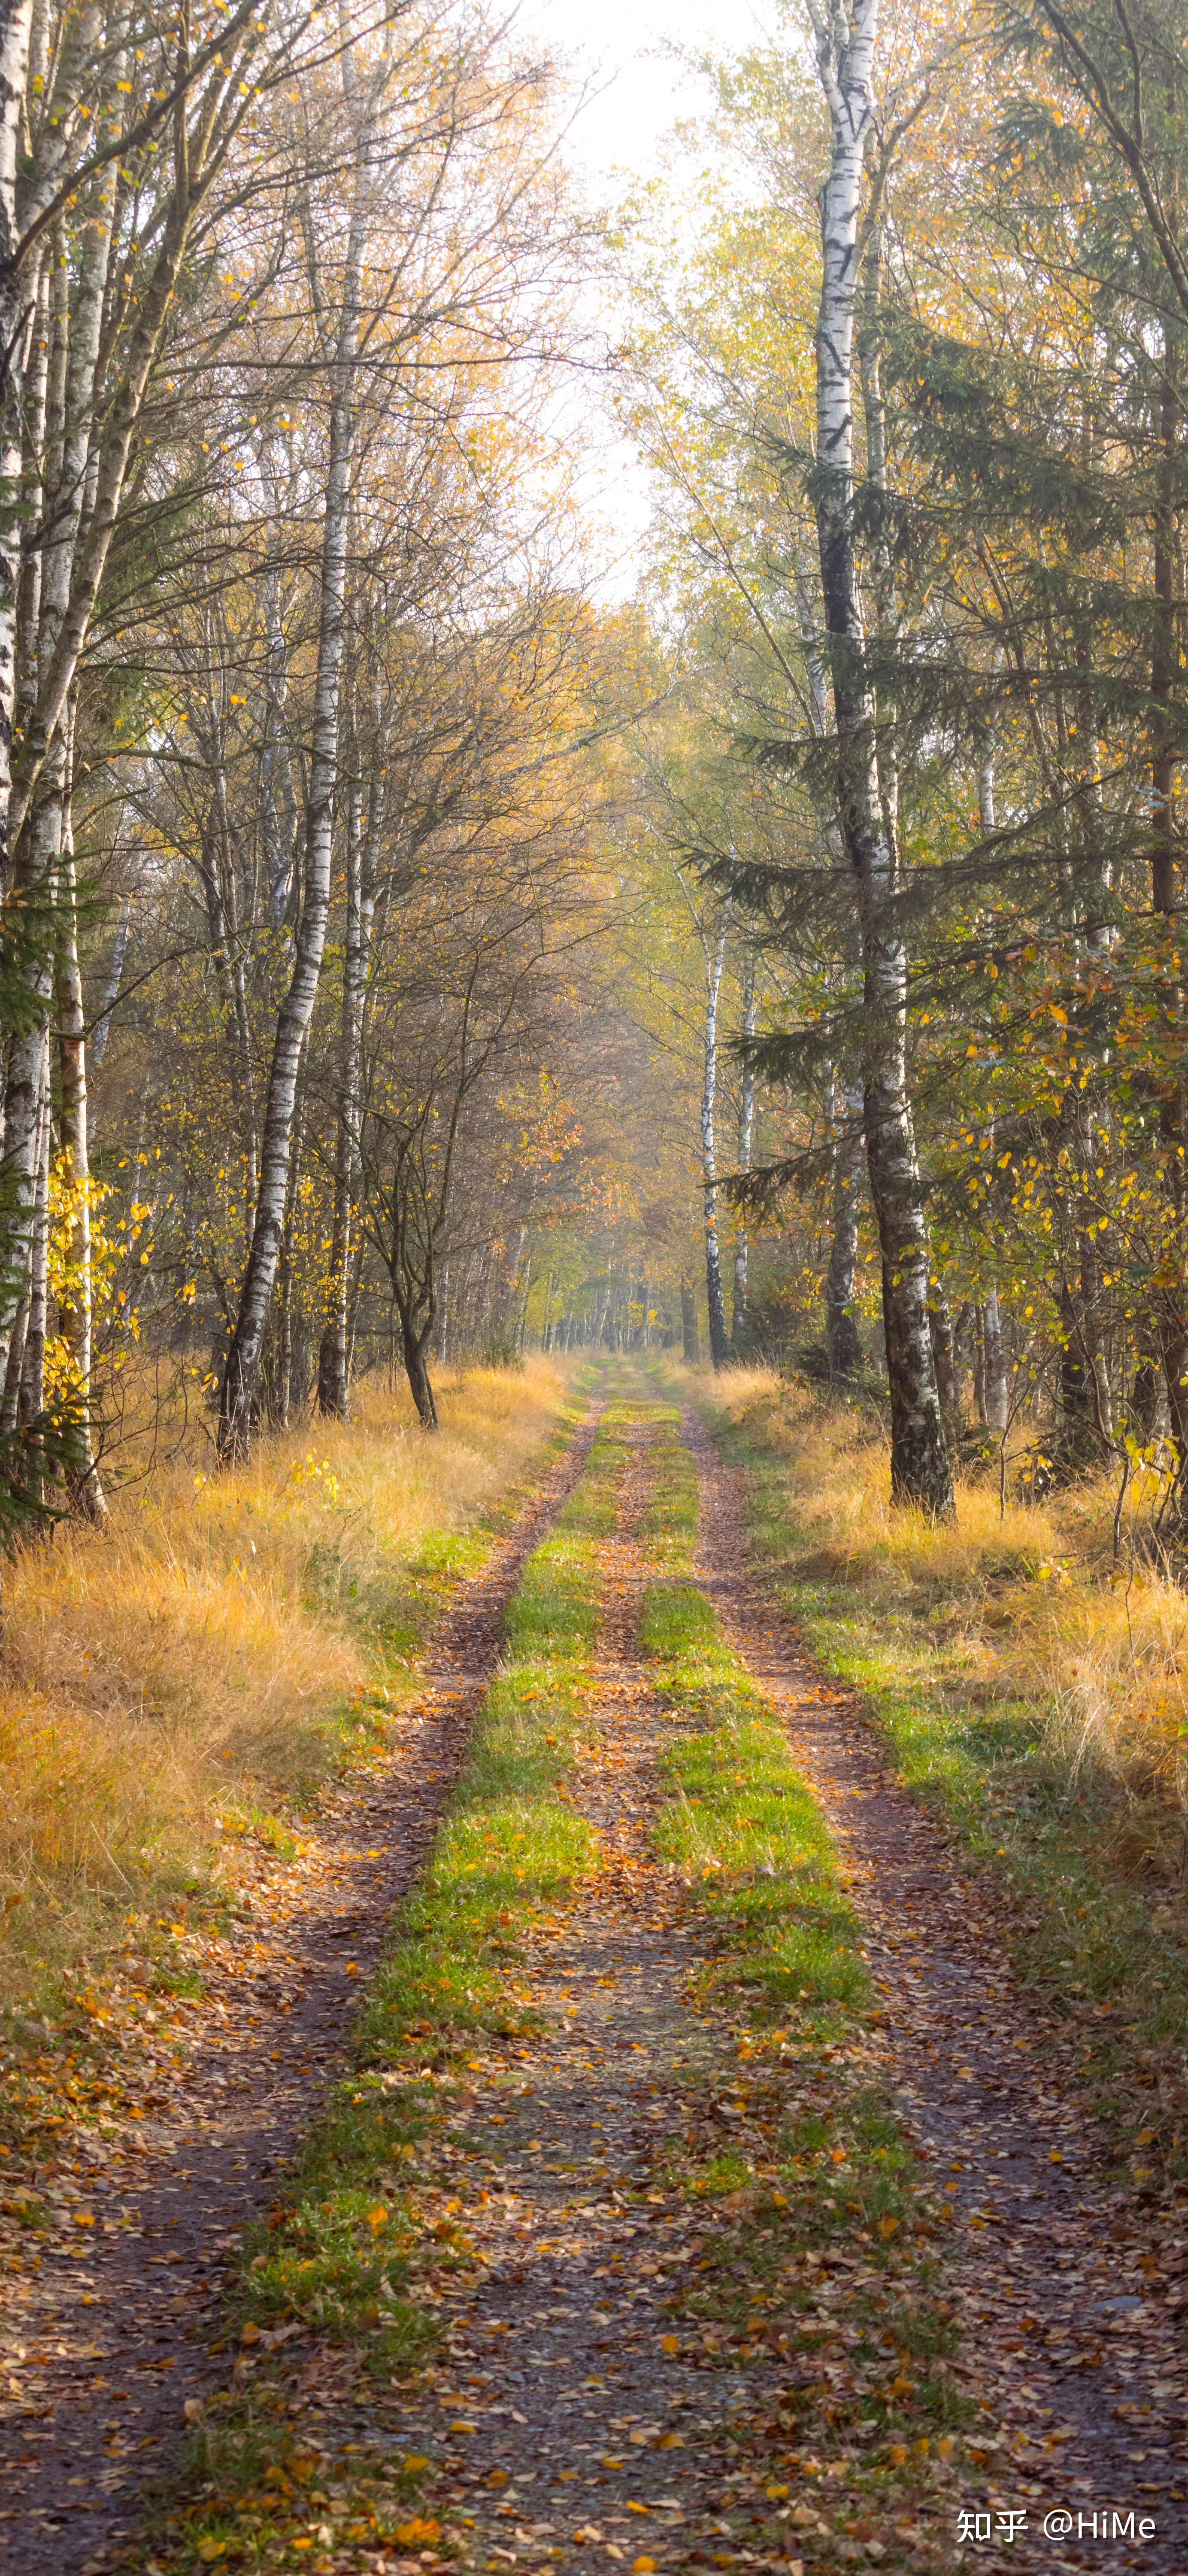
<svg viewBox="0 0 1188 2576">
<path fill-rule="evenodd" d="M 961 2563 L 1183 2576 L 1183 2213 L 1160 2223 L 1111 2187 L 1077 2105 L 1067 2027 L 1028 2004 L 984 1888 L 961 1875 L 943 1832 L 889 1780 L 848 1692 L 825 1682 L 750 1579 L 742 1481 L 693 1417 L 685 1437 L 701 1471 L 698 1582 L 778 1705 L 845 1852 L 899 2112 L 948 2169 L 966 2365 L 990 2452 L 984 2486 L 966 2499 L 990 2532 L 972 2535 Z M 1026 2530 L 1008 2545 L 1000 2517 L 1018 2512 Z M 1116 2535 L 1116 2512 L 1149 2517 L 1154 2532 Z"/>
</svg>

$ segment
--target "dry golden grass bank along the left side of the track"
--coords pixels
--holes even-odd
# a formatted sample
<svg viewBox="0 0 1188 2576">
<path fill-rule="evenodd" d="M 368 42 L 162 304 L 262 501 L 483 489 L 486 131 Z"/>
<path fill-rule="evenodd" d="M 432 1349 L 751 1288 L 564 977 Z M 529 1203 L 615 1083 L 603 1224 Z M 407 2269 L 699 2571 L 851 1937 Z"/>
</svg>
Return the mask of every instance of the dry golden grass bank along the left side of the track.
<svg viewBox="0 0 1188 2576">
<path fill-rule="evenodd" d="M 113 1901 L 204 1880 L 222 1826 L 268 1834 L 350 1749 L 376 1646 L 415 1649 L 417 1558 L 515 1489 L 564 1401 L 549 1360 L 466 1370 L 443 1430 L 366 1383 L 350 1425 L 260 1437 L 237 1473 L 193 1432 L 5 1569 L 0 1991 L 106 1937 Z M 433 1579 L 428 1579 L 433 1592 Z M 358 1731 L 356 1731 L 358 1741 Z M 374 1731 L 369 1734 L 374 1744 Z"/>
</svg>

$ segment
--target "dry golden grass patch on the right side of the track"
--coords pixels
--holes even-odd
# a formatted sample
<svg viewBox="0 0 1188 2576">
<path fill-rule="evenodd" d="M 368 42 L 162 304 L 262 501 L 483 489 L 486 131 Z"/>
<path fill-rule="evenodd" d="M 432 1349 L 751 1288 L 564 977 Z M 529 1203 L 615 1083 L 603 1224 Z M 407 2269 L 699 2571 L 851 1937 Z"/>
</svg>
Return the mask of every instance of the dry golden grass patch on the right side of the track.
<svg viewBox="0 0 1188 2576">
<path fill-rule="evenodd" d="M 850 1584 L 892 1631 L 912 1631 L 961 1695 L 1026 1700 L 1075 1772 L 1093 1767 L 1126 1798 L 1188 1811 L 1188 1592 L 1131 1546 L 1113 1558 L 1106 1479 L 1044 1504 L 1008 1499 L 1000 1515 L 997 1479 L 964 1476 L 956 1522 L 935 1525 L 892 1510 L 874 1409 L 848 1412 L 760 1368 L 688 1383 L 778 1455 L 809 1548 L 801 1577 Z"/>
</svg>

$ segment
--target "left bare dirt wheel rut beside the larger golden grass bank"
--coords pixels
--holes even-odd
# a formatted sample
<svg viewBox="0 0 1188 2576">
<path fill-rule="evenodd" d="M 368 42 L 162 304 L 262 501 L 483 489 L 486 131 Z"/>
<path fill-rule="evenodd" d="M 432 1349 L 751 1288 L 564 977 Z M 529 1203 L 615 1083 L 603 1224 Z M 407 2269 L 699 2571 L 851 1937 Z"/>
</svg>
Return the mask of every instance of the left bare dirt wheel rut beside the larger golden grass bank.
<svg viewBox="0 0 1188 2576">
<path fill-rule="evenodd" d="M 425 1692 L 363 1793 L 332 1801 L 299 1865 L 273 1883 L 224 1976 L 191 2012 L 178 2097 L 111 2148 L 80 2133 L 54 2241 L 5 2293 L 0 2568 L 108 2566 L 144 2483 L 168 2468 L 186 2401 L 209 2378 L 222 2267 L 268 2202 L 268 2177 L 309 2125 L 350 2032 L 353 1999 L 410 1886 L 500 1651 L 528 1551 L 577 1484 L 598 1406 L 484 1571 L 446 1615 Z M 152 2099 L 152 2097 L 149 2097 Z"/>
</svg>

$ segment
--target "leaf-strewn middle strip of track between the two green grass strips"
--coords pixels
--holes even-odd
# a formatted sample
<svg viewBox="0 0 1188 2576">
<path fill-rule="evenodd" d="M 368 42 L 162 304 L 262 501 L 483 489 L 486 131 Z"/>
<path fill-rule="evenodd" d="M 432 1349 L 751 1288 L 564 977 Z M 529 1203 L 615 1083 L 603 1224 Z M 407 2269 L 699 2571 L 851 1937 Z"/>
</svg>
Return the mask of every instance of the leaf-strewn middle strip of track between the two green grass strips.
<svg viewBox="0 0 1188 2576">
<path fill-rule="evenodd" d="M 665 2571 L 789 2563 L 737 2555 L 724 2519 L 737 2504 L 729 2427 L 776 2367 L 696 2367 L 688 2331 L 673 2334 L 670 2293 L 704 2221 L 680 2192 L 649 2187 L 683 2097 L 704 2092 L 714 2038 L 685 2002 L 706 1924 L 649 1852 L 657 1752 L 675 1721 L 639 1664 L 639 1597 L 655 1574 L 634 1538 L 647 1432 L 624 1437 L 634 1458 L 618 1533 L 600 1546 L 600 1747 L 577 1783 L 606 1868 L 564 1932 L 539 1945 L 533 1999 L 549 2035 L 531 2081 L 482 2089 L 456 2143 L 451 2190 L 466 2197 L 484 2272 L 477 2290 L 456 2290 L 433 2403 L 410 2409 L 399 2434 L 443 2460 L 436 2509 L 454 2540 L 459 2512 L 474 2517 L 466 2568 L 572 2553 Z"/>
</svg>

